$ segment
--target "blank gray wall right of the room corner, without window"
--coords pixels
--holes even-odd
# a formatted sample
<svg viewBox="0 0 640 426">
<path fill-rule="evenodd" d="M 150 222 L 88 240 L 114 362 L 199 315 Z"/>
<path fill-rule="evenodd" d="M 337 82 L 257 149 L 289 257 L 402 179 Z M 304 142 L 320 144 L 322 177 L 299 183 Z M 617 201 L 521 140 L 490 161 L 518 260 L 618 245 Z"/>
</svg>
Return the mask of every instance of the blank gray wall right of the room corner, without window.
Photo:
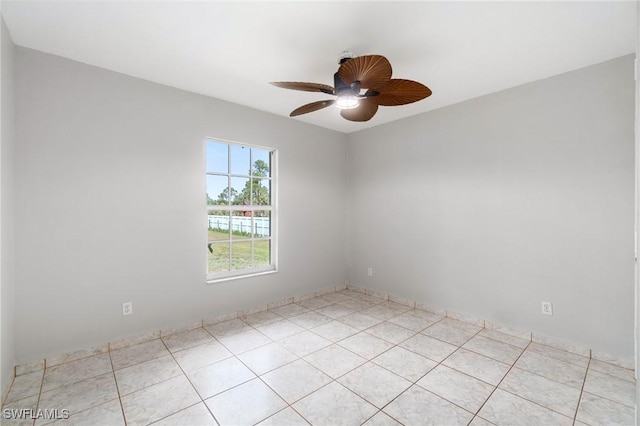
<svg viewBox="0 0 640 426">
<path fill-rule="evenodd" d="M 349 282 L 632 359 L 633 72 L 622 57 L 350 135 Z"/>
</svg>

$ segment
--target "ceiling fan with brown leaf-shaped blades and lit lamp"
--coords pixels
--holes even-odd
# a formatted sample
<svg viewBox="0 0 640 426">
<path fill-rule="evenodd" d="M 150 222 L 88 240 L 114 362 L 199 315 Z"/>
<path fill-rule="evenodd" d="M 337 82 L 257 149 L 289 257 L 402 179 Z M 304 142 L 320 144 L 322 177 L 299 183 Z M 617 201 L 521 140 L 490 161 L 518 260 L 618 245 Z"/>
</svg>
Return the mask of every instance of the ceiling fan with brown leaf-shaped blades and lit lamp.
<svg viewBox="0 0 640 426">
<path fill-rule="evenodd" d="M 391 64 L 381 55 L 354 57 L 343 52 L 338 61 L 340 68 L 333 75 L 333 85 L 305 82 L 272 82 L 284 89 L 321 92 L 337 99 L 312 102 L 294 109 L 290 117 L 317 111 L 331 105 L 340 109 L 340 115 L 350 121 L 368 121 L 378 106 L 405 105 L 431 95 L 431 89 L 413 80 L 391 78 Z"/>
</svg>

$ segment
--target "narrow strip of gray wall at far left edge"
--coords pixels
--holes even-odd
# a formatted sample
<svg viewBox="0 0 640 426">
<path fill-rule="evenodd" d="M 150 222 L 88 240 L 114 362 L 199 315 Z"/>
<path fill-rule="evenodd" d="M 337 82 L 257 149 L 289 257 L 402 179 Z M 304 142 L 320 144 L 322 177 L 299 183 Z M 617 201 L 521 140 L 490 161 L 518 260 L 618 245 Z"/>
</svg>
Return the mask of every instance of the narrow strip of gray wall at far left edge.
<svg viewBox="0 0 640 426">
<path fill-rule="evenodd" d="M 4 19 L 0 15 L 0 394 L 8 390 L 15 365 L 14 333 L 14 256 L 13 256 L 13 155 L 14 128 L 14 50 Z"/>
</svg>

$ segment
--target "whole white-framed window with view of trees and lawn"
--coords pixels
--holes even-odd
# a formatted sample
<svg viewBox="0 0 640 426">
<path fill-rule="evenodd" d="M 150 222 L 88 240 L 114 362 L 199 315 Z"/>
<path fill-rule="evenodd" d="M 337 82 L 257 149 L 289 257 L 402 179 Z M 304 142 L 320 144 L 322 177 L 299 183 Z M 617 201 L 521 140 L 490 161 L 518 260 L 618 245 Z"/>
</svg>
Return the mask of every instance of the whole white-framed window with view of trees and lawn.
<svg viewBox="0 0 640 426">
<path fill-rule="evenodd" d="M 275 151 L 208 139 L 207 280 L 274 271 Z"/>
</svg>

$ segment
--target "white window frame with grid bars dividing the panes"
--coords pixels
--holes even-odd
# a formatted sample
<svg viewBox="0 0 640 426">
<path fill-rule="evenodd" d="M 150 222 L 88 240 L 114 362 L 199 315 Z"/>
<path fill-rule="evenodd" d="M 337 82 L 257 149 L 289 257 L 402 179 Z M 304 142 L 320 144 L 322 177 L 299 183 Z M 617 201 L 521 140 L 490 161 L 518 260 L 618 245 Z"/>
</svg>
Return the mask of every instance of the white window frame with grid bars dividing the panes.
<svg viewBox="0 0 640 426">
<path fill-rule="evenodd" d="M 207 176 L 209 175 L 217 175 L 217 176 L 224 176 L 224 173 L 210 173 L 209 170 L 207 170 L 207 165 L 206 165 L 206 153 L 207 153 L 207 142 L 218 142 L 218 143 L 223 143 L 223 144 L 227 144 L 227 145 L 235 145 L 235 146 L 242 146 L 242 147 L 246 147 L 246 148 L 257 148 L 257 149 L 261 149 L 261 150 L 265 150 L 265 151 L 269 151 L 271 153 L 271 164 L 269 166 L 269 173 L 270 173 L 270 199 L 271 199 L 271 205 L 270 206 L 265 206 L 265 205 L 251 205 L 251 206 L 235 206 L 235 205 L 228 205 L 228 206 L 224 206 L 224 205 L 208 205 L 207 201 L 206 201 L 206 197 L 204 200 L 205 203 L 205 230 L 207 231 L 205 233 L 205 274 L 206 274 L 206 281 L 208 284 L 214 284 L 214 283 L 219 283 L 219 282 L 224 282 L 224 281 L 230 281 L 230 280 L 236 280 L 236 279 L 240 279 L 240 278 L 247 278 L 247 277 L 254 277 L 254 276 L 260 276 L 260 275 L 266 275 L 266 274 L 272 274 L 275 272 L 278 272 L 278 209 L 277 209 L 277 205 L 278 205 L 278 173 L 277 173 L 277 164 L 278 164 L 278 150 L 275 148 L 270 148 L 267 146 L 263 146 L 263 145 L 254 145 L 254 144 L 248 144 L 248 143 L 240 143 L 240 142 L 235 142 L 235 141 L 229 141 L 226 139 L 221 139 L 221 138 L 215 138 L 215 137 L 207 137 L 204 140 L 203 146 L 204 146 L 204 157 L 205 157 L 205 173 L 204 173 L 204 180 L 205 180 L 205 189 L 207 187 Z M 230 150 L 231 151 L 231 150 Z M 231 173 L 231 153 L 229 152 L 228 154 L 228 158 L 227 161 L 229 162 L 228 165 L 228 170 L 227 170 L 227 176 L 229 177 L 242 177 L 242 178 L 249 178 L 251 179 L 252 176 L 250 175 L 239 175 L 239 174 L 232 174 Z M 253 158 L 251 158 L 250 161 L 253 161 Z M 251 164 L 253 164 L 251 162 Z M 254 176 L 255 177 L 255 176 Z M 216 272 L 216 273 L 209 273 L 209 266 L 208 266 L 208 252 L 207 250 L 207 246 L 209 244 L 209 237 L 208 237 L 208 229 L 209 229 L 209 212 L 210 211 L 215 211 L 215 210 L 226 210 L 226 211 L 261 211 L 261 210 L 267 210 L 271 212 L 271 216 L 270 216 L 270 226 L 271 226 L 271 230 L 270 230 L 270 237 L 269 238 L 255 238 L 255 237 L 251 237 L 248 239 L 243 239 L 242 241 L 256 241 L 256 240 L 265 240 L 268 239 L 271 241 L 271 246 L 270 246 L 270 255 L 271 255 L 271 264 L 269 266 L 265 266 L 265 267 L 260 267 L 260 268 L 246 268 L 246 269 L 238 269 L 235 271 L 226 271 L 226 272 Z M 232 247 L 232 245 L 230 245 L 230 247 Z M 231 249 L 232 250 L 232 249 Z M 231 258 L 232 256 L 232 252 L 230 251 L 229 256 Z"/>
</svg>

